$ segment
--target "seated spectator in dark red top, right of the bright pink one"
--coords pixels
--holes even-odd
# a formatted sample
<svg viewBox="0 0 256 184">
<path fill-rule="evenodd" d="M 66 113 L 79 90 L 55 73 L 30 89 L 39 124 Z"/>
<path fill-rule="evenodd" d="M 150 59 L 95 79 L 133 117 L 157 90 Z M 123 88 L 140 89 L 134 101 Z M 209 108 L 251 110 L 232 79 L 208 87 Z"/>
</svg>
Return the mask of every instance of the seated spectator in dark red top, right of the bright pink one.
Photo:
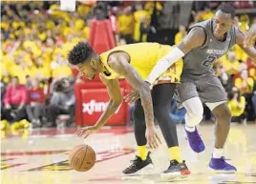
<svg viewBox="0 0 256 184">
<path fill-rule="evenodd" d="M 29 120 L 32 122 L 32 127 L 41 126 L 41 118 L 45 115 L 45 94 L 42 88 L 39 87 L 39 81 L 36 78 L 32 79 L 32 89 L 29 90 L 29 104 L 26 107 Z"/>
</svg>

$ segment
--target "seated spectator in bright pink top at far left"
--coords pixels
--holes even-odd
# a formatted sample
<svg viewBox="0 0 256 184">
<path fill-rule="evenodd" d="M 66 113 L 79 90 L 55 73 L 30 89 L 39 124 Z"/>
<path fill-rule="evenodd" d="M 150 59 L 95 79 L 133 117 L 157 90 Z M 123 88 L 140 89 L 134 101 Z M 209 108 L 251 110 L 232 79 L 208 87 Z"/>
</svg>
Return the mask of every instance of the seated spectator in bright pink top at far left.
<svg viewBox="0 0 256 184">
<path fill-rule="evenodd" d="M 26 104 L 28 92 L 24 85 L 19 84 L 17 76 L 11 78 L 11 84 L 4 96 L 3 119 L 9 122 L 17 122 L 26 117 Z"/>
</svg>

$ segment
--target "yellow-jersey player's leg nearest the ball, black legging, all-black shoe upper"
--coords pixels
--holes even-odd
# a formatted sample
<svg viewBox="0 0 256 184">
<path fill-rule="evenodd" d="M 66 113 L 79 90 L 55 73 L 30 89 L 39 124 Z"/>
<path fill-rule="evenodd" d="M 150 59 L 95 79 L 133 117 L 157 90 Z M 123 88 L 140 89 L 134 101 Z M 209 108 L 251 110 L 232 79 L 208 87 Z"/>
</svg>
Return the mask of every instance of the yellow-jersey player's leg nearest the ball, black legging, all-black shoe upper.
<svg viewBox="0 0 256 184">
<path fill-rule="evenodd" d="M 138 155 L 132 161 L 132 164 L 127 167 L 122 173 L 123 174 L 139 174 L 142 171 L 152 168 L 153 163 L 150 157 L 150 152 L 147 150 L 147 139 L 145 137 L 146 124 L 143 107 L 141 106 L 140 99 L 135 102 L 134 109 L 134 132 L 137 142 L 137 153 Z"/>
</svg>

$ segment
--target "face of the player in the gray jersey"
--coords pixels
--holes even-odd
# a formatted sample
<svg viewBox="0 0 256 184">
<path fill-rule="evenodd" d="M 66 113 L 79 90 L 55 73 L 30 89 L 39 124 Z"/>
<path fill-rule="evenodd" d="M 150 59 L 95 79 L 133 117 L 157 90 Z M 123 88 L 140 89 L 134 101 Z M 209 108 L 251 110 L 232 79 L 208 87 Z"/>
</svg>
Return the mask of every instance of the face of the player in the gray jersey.
<svg viewBox="0 0 256 184">
<path fill-rule="evenodd" d="M 213 33 L 217 38 L 222 38 L 224 34 L 229 31 L 233 25 L 233 19 L 230 13 L 225 13 L 218 10 L 213 18 Z"/>
</svg>

